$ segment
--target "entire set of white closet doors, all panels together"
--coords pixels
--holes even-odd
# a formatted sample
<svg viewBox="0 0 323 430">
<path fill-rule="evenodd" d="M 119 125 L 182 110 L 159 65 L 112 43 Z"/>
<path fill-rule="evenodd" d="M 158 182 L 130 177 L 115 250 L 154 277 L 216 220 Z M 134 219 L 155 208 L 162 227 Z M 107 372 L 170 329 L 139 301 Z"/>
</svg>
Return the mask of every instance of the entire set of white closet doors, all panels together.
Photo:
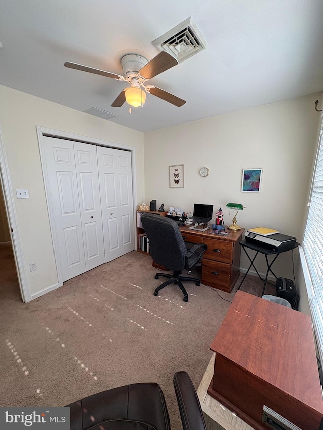
<svg viewBox="0 0 323 430">
<path fill-rule="evenodd" d="M 131 158 L 127 151 L 64 139 L 44 137 L 44 143 L 47 198 L 64 282 L 134 250 Z M 107 177 L 105 165 L 111 162 Z M 113 214 L 107 217 L 109 210 Z"/>
</svg>

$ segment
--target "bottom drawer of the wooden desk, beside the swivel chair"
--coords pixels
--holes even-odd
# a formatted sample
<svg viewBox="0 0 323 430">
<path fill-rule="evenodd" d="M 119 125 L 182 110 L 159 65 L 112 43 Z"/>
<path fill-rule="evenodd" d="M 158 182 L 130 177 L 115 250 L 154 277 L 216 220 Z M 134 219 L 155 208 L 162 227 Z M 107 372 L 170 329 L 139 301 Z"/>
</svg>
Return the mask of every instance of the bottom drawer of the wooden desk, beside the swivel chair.
<svg viewBox="0 0 323 430">
<path fill-rule="evenodd" d="M 230 293 L 231 265 L 203 258 L 202 283 Z"/>
</svg>

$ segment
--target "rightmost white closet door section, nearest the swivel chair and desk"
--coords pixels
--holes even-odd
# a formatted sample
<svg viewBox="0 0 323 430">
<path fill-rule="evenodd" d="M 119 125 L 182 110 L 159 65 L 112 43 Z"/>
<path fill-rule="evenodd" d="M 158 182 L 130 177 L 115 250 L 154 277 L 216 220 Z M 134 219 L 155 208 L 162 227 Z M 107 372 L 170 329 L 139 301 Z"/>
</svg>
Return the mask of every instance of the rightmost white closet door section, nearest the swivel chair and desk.
<svg viewBox="0 0 323 430">
<path fill-rule="evenodd" d="M 98 147 L 105 261 L 135 249 L 131 154 Z"/>
</svg>

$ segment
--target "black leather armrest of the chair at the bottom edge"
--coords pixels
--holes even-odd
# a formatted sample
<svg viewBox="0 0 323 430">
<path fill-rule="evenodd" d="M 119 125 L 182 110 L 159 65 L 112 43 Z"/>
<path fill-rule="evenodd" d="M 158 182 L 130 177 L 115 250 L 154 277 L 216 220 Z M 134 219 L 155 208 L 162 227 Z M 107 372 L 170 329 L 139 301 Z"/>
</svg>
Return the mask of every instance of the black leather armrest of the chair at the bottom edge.
<svg viewBox="0 0 323 430">
<path fill-rule="evenodd" d="M 173 382 L 184 430 L 206 430 L 200 401 L 189 375 L 176 372 Z"/>
</svg>

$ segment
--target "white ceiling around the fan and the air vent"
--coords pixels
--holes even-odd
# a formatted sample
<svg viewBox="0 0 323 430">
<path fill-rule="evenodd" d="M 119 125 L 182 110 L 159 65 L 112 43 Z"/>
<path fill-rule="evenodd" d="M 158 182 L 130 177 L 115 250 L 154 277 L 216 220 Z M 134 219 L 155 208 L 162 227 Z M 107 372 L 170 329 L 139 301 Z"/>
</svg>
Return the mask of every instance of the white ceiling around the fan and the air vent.
<svg viewBox="0 0 323 430">
<path fill-rule="evenodd" d="M 148 94 L 130 115 L 110 106 L 125 83 L 64 67 L 122 74 L 123 52 L 150 60 L 152 41 L 190 16 L 207 48 L 149 81 L 182 107 Z M 155 130 L 322 91 L 322 22 L 322 0 L 0 0 L 0 84 Z"/>
</svg>

